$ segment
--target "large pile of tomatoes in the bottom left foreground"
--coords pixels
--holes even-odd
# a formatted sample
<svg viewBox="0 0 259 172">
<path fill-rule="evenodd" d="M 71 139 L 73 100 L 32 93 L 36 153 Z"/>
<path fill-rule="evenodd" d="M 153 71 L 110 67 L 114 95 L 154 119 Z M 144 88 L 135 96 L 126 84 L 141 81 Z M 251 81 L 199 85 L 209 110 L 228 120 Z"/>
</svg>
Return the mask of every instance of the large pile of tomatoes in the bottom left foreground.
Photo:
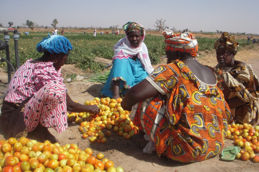
<svg viewBox="0 0 259 172">
<path fill-rule="evenodd" d="M 25 137 L 0 140 L 0 172 L 123 172 L 102 153 L 76 144 L 60 146 L 49 140 L 37 142 Z"/>
</svg>

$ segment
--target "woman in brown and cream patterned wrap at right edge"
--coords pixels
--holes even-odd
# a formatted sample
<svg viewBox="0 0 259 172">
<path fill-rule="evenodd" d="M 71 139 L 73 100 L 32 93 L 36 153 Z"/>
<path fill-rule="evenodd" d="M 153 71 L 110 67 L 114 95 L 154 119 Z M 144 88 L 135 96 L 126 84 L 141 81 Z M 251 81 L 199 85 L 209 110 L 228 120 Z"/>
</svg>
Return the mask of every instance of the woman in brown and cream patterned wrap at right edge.
<svg viewBox="0 0 259 172">
<path fill-rule="evenodd" d="M 235 36 L 223 32 L 214 43 L 223 93 L 236 122 L 256 124 L 259 119 L 259 84 L 252 66 L 235 60 L 239 43 Z"/>
</svg>

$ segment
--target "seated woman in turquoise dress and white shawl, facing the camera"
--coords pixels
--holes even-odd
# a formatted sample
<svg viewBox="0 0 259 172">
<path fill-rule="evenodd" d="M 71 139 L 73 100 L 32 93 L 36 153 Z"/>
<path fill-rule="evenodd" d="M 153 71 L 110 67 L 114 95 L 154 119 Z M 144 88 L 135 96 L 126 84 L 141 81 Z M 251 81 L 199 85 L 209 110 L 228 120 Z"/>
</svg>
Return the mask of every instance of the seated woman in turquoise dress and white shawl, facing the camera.
<svg viewBox="0 0 259 172">
<path fill-rule="evenodd" d="M 135 22 L 123 26 L 125 37 L 113 46 L 113 66 L 102 89 L 102 95 L 117 99 L 154 69 L 144 44 L 145 28 Z"/>
</svg>

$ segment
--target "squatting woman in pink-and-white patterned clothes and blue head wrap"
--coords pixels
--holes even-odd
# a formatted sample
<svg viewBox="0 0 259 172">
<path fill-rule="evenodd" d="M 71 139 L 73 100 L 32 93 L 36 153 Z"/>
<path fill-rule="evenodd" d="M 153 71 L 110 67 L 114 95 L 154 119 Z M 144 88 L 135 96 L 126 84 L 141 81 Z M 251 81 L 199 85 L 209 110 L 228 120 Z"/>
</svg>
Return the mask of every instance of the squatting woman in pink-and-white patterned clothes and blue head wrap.
<svg viewBox="0 0 259 172">
<path fill-rule="evenodd" d="M 1 108 L 0 124 L 6 138 L 33 132 L 41 140 L 59 142 L 48 130 L 58 133 L 67 126 L 67 111 L 98 113 L 97 105 L 72 101 L 62 83 L 61 66 L 73 47 L 64 36 L 53 35 L 37 44 L 40 58 L 27 60 L 14 74 Z"/>
</svg>

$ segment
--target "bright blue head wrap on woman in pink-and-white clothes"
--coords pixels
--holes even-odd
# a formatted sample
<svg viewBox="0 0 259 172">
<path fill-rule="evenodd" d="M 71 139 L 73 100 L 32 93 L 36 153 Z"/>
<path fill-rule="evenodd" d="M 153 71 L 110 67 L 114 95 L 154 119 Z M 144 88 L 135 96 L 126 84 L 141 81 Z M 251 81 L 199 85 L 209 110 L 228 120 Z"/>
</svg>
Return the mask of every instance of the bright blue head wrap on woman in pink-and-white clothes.
<svg viewBox="0 0 259 172">
<path fill-rule="evenodd" d="M 38 52 L 49 52 L 49 53 L 64 53 L 70 54 L 70 50 L 73 49 L 69 40 L 60 35 L 48 34 L 49 37 L 43 38 L 41 42 L 37 44 Z"/>
</svg>

